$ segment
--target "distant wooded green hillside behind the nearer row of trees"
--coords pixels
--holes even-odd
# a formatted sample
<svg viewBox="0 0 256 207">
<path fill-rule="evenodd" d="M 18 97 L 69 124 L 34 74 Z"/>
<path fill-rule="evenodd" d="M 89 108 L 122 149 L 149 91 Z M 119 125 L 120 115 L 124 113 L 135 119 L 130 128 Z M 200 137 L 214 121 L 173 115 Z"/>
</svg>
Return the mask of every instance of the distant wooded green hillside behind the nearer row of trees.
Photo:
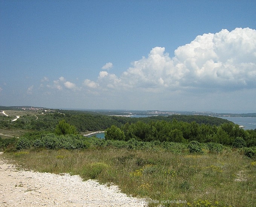
<svg viewBox="0 0 256 207">
<path fill-rule="evenodd" d="M 42 112 L 42 113 L 41 113 Z M 51 131 L 55 130 L 55 126 L 58 122 L 64 119 L 70 125 L 74 125 L 78 132 L 85 131 L 100 131 L 105 130 L 111 125 L 121 127 L 125 123 L 136 123 L 142 121 L 145 123 L 165 120 L 167 122 L 176 119 L 183 122 L 195 121 L 198 124 L 210 124 L 220 125 L 222 123 L 229 123 L 228 120 L 220 119 L 210 116 L 193 116 L 193 115 L 172 115 L 172 116 L 151 116 L 145 118 L 130 118 L 120 116 L 108 116 L 100 113 L 93 113 L 88 111 L 69 111 L 69 110 L 50 110 L 45 112 L 36 111 L 8 111 L 6 113 L 12 114 L 12 116 L 4 116 L 0 114 L 0 129 L 25 129 L 33 131 Z M 11 122 L 15 118 L 15 115 L 20 116 L 15 122 Z"/>
</svg>

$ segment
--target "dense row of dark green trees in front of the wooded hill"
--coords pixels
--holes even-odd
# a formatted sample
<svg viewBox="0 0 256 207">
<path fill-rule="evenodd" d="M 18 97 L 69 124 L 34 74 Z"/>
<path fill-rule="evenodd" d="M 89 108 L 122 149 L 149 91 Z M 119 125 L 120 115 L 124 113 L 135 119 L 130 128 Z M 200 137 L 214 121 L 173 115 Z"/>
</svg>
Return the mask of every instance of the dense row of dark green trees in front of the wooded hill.
<svg viewBox="0 0 256 207">
<path fill-rule="evenodd" d="M 244 140 L 244 146 L 256 146 L 256 130 L 244 130 L 234 123 L 222 123 L 219 126 L 192 122 L 151 121 L 148 123 L 138 121 L 125 123 L 120 128 L 112 125 L 105 130 L 106 140 L 136 139 L 138 141 L 151 142 L 180 142 L 188 143 L 198 141 L 201 143 L 215 142 L 223 145 L 232 145 L 237 138 Z"/>
</svg>

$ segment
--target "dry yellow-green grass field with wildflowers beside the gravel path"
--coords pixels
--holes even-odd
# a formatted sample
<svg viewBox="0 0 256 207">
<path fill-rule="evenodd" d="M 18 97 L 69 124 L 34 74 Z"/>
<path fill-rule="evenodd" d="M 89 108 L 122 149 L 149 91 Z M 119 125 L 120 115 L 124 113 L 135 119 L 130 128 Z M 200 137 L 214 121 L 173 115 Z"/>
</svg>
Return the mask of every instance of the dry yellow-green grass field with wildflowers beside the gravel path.
<svg viewBox="0 0 256 207">
<path fill-rule="evenodd" d="M 97 147 L 81 151 L 30 149 L 3 155 L 26 169 L 67 172 L 116 184 L 127 195 L 150 198 L 149 206 L 254 207 L 256 203 L 256 162 L 237 149 L 220 153 L 203 149 L 203 154 L 183 149 L 175 154 L 161 149 Z M 178 200 L 186 203 L 166 204 Z"/>
</svg>

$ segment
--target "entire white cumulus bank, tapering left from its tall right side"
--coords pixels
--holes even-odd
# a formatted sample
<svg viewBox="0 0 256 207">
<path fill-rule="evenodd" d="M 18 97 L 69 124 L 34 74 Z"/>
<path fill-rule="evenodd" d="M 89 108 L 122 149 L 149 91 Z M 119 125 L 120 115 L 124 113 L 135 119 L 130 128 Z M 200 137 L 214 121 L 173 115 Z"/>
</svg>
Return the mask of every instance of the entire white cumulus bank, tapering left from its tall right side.
<svg viewBox="0 0 256 207">
<path fill-rule="evenodd" d="M 88 87 L 143 90 L 240 90 L 256 87 L 256 30 L 236 28 L 199 35 L 175 50 L 170 57 L 164 47 L 154 47 L 148 57 L 116 75 L 101 71 Z"/>
</svg>

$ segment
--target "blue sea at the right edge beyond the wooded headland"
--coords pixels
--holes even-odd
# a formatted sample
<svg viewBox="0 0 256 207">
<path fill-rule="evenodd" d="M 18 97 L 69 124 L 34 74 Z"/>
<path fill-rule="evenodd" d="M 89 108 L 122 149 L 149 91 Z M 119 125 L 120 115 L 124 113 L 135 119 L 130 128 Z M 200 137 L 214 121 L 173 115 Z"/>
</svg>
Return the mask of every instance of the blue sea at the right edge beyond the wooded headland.
<svg viewBox="0 0 256 207">
<path fill-rule="evenodd" d="M 256 117 L 219 117 L 221 119 L 227 119 L 235 124 L 245 126 L 246 129 L 256 129 Z"/>
</svg>

